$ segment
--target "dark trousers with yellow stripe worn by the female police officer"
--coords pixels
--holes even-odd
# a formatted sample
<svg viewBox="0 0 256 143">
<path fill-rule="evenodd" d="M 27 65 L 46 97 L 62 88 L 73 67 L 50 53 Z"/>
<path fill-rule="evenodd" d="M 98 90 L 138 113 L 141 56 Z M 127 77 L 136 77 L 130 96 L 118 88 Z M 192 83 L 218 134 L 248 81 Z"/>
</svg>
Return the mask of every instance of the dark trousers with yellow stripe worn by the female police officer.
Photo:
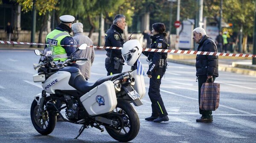
<svg viewBox="0 0 256 143">
<path fill-rule="evenodd" d="M 168 115 L 160 95 L 160 84 L 164 73 L 165 72 L 163 72 L 163 68 L 157 68 L 157 70 L 152 72 L 152 77 L 149 80 L 148 96 L 152 103 L 151 116 L 153 117 L 163 117 L 165 115 Z"/>
</svg>

